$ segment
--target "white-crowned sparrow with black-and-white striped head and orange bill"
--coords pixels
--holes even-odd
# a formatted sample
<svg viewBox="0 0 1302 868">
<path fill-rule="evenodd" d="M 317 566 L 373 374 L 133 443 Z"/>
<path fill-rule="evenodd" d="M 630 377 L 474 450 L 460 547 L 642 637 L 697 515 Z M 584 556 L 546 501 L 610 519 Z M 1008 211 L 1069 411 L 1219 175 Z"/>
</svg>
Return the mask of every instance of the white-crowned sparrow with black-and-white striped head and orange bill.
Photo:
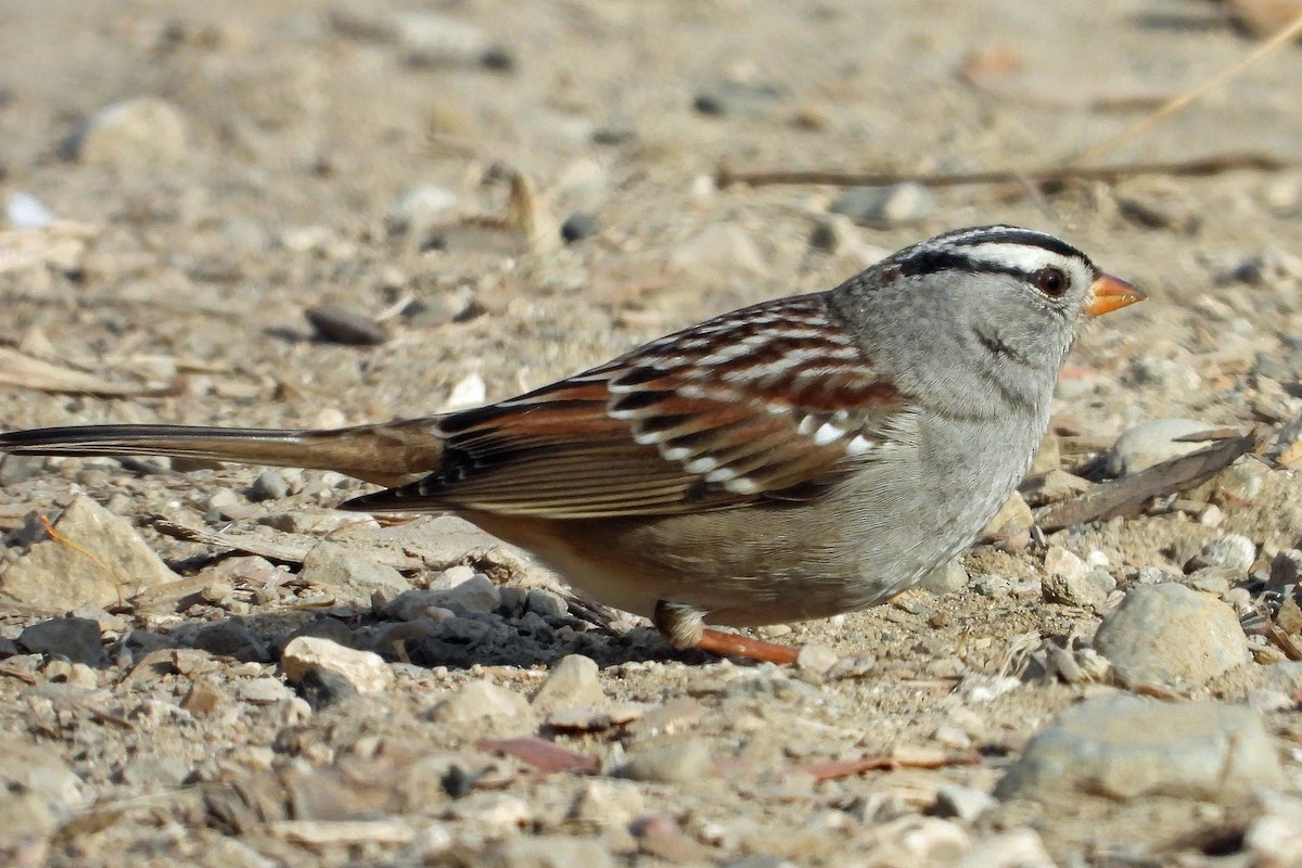
<svg viewBox="0 0 1302 868">
<path fill-rule="evenodd" d="M 0 449 L 350 474 L 391 488 L 346 509 L 456 513 L 677 647 L 733 651 L 703 622 L 870 606 L 967 547 L 1027 471 L 1081 323 L 1142 298 L 1052 236 L 960 229 L 475 410 L 47 428 Z"/>
</svg>

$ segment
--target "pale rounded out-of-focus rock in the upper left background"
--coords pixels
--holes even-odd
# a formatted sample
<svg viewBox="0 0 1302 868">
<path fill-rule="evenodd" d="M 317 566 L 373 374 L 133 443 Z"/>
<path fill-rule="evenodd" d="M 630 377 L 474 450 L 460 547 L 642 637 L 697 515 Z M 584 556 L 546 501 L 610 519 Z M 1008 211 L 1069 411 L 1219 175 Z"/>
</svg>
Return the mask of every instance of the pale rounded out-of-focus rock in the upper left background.
<svg viewBox="0 0 1302 868">
<path fill-rule="evenodd" d="M 82 163 L 147 169 L 178 163 L 187 150 L 185 117 L 172 103 L 152 96 L 105 105 L 70 142 Z"/>
</svg>

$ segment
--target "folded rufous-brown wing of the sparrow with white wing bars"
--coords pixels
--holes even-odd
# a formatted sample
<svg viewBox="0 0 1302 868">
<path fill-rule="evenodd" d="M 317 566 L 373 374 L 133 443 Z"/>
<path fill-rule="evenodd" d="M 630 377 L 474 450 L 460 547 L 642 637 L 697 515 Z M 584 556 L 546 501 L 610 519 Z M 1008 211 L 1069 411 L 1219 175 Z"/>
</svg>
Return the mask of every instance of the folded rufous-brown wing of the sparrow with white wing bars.
<svg viewBox="0 0 1302 868">
<path fill-rule="evenodd" d="M 871 459 L 901 405 L 822 297 L 777 299 L 444 416 L 441 470 L 350 506 L 596 518 L 784 498 Z"/>
</svg>

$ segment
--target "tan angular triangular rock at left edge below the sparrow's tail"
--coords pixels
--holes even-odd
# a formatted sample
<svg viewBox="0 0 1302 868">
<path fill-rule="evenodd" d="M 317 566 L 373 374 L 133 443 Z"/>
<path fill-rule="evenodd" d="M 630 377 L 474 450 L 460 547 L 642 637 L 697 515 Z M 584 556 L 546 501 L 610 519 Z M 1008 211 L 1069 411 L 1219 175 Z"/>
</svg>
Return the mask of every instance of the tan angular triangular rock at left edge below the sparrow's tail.
<svg viewBox="0 0 1302 868">
<path fill-rule="evenodd" d="M 117 605 L 143 588 L 178 576 L 132 524 L 89 497 L 73 500 L 55 523 L 59 540 L 36 543 L 0 576 L 0 597 L 68 612 Z"/>
</svg>

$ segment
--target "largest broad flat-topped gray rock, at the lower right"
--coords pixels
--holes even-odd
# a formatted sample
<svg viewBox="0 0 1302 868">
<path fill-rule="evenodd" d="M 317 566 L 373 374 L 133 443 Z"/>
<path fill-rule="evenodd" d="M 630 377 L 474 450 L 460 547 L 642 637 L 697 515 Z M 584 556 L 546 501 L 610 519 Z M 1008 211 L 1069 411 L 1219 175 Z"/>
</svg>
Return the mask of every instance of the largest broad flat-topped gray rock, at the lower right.
<svg viewBox="0 0 1302 868">
<path fill-rule="evenodd" d="M 1085 700 L 1038 733 L 995 795 L 1233 799 L 1282 782 L 1275 744 L 1253 709 L 1112 694 Z"/>
</svg>

